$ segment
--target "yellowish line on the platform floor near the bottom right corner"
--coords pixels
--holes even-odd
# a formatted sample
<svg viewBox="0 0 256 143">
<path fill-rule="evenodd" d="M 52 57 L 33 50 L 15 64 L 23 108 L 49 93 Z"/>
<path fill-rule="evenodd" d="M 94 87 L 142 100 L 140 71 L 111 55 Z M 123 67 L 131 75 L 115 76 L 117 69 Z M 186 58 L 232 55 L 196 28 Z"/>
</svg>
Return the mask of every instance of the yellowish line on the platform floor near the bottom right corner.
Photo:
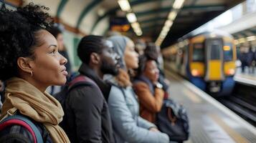
<svg viewBox="0 0 256 143">
<path fill-rule="evenodd" d="M 234 139 L 234 142 L 238 142 L 238 143 L 248 142 L 247 139 L 245 139 L 239 133 L 237 133 L 234 129 L 229 127 L 217 114 L 211 114 L 210 117 L 212 117 L 212 119 L 214 119 L 214 122 L 219 124 L 219 126 L 222 127 L 222 129 L 224 129 L 224 131 L 227 132 L 227 134 L 229 134 L 229 136 L 232 137 L 232 139 Z"/>
</svg>

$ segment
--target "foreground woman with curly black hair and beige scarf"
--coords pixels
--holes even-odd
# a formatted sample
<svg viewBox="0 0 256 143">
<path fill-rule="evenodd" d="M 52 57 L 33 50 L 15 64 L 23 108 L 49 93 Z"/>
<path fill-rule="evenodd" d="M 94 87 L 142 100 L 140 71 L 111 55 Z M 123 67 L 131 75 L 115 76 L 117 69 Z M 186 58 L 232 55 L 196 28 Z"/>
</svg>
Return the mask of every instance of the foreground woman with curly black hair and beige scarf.
<svg viewBox="0 0 256 143">
<path fill-rule="evenodd" d="M 58 125 L 62 107 L 45 92 L 63 85 L 67 71 L 57 41 L 47 29 L 52 24 L 45 6 L 28 4 L 15 11 L 0 8 L 0 79 L 6 81 L 0 119 L 18 114 L 31 120 L 44 142 L 70 142 Z M 29 129 L 18 124 L 0 132 L 0 142 L 37 142 Z"/>
</svg>

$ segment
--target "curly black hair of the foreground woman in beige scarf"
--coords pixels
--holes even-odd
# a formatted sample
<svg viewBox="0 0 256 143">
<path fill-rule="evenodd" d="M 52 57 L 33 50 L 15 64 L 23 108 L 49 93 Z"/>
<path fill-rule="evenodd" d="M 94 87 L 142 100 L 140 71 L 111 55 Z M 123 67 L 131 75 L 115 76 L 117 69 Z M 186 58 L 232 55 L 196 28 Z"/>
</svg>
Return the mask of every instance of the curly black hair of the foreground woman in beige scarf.
<svg viewBox="0 0 256 143">
<path fill-rule="evenodd" d="M 29 3 L 15 11 L 0 8 L 0 79 L 6 80 L 19 76 L 17 59 L 34 59 L 34 47 L 39 46 L 37 31 L 52 25 L 52 18 L 44 12 L 45 6 Z"/>
</svg>

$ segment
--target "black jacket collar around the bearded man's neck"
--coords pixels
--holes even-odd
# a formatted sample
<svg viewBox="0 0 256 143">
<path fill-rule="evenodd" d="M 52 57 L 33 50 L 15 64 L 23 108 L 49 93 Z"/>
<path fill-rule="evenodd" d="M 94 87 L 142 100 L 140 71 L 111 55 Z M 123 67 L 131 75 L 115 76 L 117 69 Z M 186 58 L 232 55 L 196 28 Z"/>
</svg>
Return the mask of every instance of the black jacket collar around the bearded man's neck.
<svg viewBox="0 0 256 143">
<path fill-rule="evenodd" d="M 106 100 L 108 100 L 108 95 L 110 93 L 110 84 L 103 82 L 102 79 L 95 73 L 93 69 L 90 68 L 87 64 L 82 64 L 80 66 L 80 69 L 78 70 L 80 74 L 85 75 L 86 77 L 89 77 L 92 79 L 98 87 L 100 87 L 101 92 L 103 93 Z"/>
</svg>

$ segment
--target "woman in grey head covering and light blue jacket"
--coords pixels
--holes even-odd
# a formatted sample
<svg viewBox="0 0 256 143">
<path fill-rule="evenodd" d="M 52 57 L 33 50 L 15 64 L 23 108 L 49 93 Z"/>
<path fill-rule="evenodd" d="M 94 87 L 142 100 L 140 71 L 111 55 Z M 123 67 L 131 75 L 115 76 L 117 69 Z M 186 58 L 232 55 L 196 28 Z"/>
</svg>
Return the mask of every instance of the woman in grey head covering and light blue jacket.
<svg viewBox="0 0 256 143">
<path fill-rule="evenodd" d="M 113 86 L 108 97 L 116 142 L 169 142 L 167 134 L 159 132 L 154 124 L 139 116 L 138 101 L 128 75 L 128 70 L 138 68 L 138 54 L 133 41 L 125 36 L 111 36 L 109 40 L 121 57 L 120 72 L 110 81 Z"/>
</svg>

